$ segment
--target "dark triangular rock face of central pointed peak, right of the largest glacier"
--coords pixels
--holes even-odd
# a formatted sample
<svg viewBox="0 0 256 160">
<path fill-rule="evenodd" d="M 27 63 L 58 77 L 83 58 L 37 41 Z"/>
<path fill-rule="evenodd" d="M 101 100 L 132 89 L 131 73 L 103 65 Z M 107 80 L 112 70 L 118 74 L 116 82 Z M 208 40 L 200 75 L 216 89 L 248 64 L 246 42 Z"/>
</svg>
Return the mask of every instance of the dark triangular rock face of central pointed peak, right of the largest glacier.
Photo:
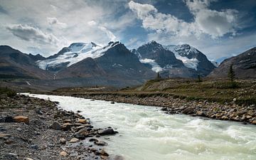
<svg viewBox="0 0 256 160">
<path fill-rule="evenodd" d="M 153 71 L 140 63 L 139 58 L 122 43 L 110 48 L 101 57 L 95 58 L 95 62 L 112 80 L 136 80 L 138 84 L 154 77 Z"/>
</svg>

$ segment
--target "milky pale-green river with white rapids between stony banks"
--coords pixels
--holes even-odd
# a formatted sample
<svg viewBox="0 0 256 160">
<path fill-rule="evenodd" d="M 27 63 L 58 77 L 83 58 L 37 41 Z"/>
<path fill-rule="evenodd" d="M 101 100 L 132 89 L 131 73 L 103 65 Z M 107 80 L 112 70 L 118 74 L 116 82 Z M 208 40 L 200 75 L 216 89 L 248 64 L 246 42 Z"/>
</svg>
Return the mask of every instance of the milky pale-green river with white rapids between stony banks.
<svg viewBox="0 0 256 160">
<path fill-rule="evenodd" d="M 60 102 L 64 110 L 82 111 L 95 127 L 114 127 L 105 139 L 107 152 L 132 160 L 256 159 L 256 126 L 188 115 L 169 115 L 159 107 L 110 104 L 101 100 L 30 95 Z"/>
</svg>

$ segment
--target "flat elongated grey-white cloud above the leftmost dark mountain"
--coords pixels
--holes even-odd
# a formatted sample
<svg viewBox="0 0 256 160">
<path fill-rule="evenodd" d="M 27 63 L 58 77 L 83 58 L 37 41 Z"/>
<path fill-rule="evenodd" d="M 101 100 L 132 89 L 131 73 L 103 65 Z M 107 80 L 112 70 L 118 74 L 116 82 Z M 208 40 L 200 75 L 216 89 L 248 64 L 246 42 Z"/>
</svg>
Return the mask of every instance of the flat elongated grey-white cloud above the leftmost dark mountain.
<svg viewBox="0 0 256 160">
<path fill-rule="evenodd" d="M 28 25 L 16 24 L 6 27 L 14 36 L 25 41 L 36 41 L 38 43 L 49 43 L 58 45 L 59 40 L 52 33 L 44 33 L 39 28 Z"/>
</svg>

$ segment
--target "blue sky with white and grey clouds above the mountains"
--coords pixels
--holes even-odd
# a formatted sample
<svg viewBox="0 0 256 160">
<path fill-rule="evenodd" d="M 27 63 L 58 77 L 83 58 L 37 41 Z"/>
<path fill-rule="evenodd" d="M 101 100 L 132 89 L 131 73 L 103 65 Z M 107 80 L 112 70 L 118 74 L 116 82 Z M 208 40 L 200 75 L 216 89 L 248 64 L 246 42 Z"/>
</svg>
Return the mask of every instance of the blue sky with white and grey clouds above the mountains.
<svg viewBox="0 0 256 160">
<path fill-rule="evenodd" d="M 256 46 L 255 0 L 0 0 L 0 45 L 53 55 L 74 42 L 182 44 L 210 60 Z"/>
</svg>

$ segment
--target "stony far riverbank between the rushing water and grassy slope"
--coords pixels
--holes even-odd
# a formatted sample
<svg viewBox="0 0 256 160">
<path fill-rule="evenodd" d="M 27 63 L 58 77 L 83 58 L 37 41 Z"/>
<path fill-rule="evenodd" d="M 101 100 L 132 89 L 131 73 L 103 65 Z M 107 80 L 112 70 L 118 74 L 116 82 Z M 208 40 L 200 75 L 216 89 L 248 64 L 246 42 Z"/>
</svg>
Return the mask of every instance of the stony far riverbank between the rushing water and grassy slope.
<svg viewBox="0 0 256 160">
<path fill-rule="evenodd" d="M 168 94 L 73 94 L 75 97 L 84 97 L 95 100 L 124 102 L 136 105 L 149 105 L 163 107 L 167 114 L 191 114 L 192 116 L 208 117 L 211 119 L 231 120 L 245 124 L 256 124 L 255 105 L 236 105 L 234 102 L 221 105 L 218 102 L 181 100 Z"/>
</svg>

